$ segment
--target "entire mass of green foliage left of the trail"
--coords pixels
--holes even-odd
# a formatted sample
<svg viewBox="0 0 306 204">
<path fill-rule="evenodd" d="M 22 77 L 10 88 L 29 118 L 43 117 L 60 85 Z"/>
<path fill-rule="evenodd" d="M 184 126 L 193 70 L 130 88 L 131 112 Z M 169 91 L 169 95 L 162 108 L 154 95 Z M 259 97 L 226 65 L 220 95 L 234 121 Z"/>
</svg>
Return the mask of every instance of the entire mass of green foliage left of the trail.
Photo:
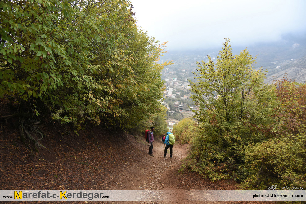
<svg viewBox="0 0 306 204">
<path fill-rule="evenodd" d="M 160 123 L 160 71 L 167 63 L 157 60 L 165 43 L 137 28 L 130 6 L 125 0 L 0 2 L 0 96 L 16 107 L 21 124 L 129 130 Z"/>
</svg>

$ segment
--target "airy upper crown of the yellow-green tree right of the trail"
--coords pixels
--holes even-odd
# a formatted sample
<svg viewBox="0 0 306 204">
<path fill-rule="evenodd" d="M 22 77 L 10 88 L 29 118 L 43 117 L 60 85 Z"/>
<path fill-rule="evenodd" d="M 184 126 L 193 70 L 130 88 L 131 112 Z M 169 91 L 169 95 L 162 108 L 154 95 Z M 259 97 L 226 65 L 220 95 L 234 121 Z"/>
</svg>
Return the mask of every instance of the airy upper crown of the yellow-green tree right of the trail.
<svg viewBox="0 0 306 204">
<path fill-rule="evenodd" d="M 197 62 L 199 68 L 194 73 L 197 82 L 190 82 L 191 99 L 201 108 L 196 112 L 197 118 L 209 122 L 216 114 L 220 122 L 252 121 L 254 116 L 248 107 L 263 87 L 265 72 L 253 69 L 255 60 L 246 49 L 233 56 L 230 41 L 226 40 L 223 45 L 216 63 L 209 56 L 208 63 Z M 261 102 L 253 104 L 257 110 L 261 109 Z"/>
</svg>

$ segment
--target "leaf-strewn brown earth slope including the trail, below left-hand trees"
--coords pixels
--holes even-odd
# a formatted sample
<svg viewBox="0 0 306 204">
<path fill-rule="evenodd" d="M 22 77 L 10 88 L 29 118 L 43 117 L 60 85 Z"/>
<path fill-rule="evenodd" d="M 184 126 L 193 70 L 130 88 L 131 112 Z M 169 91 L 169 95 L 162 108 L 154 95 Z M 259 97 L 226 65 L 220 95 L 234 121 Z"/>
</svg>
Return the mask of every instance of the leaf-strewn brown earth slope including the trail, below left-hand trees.
<svg viewBox="0 0 306 204">
<path fill-rule="evenodd" d="M 211 182 L 193 172 L 178 173 L 181 161 L 187 156 L 189 145 L 186 144 L 174 146 L 173 159 L 163 158 L 164 145 L 156 137 L 155 157 L 151 157 L 143 138 L 114 134 L 100 128 L 83 130 L 75 135 L 67 126 L 45 124 L 40 128 L 45 133 L 40 141 L 47 149 L 38 148 L 35 151 L 32 142 L 21 142 L 14 127 L 16 121 L 1 122 L 1 190 L 173 190 L 173 201 L 124 203 L 190 203 L 187 190 L 237 188 L 236 182 L 231 180 Z"/>
</svg>

